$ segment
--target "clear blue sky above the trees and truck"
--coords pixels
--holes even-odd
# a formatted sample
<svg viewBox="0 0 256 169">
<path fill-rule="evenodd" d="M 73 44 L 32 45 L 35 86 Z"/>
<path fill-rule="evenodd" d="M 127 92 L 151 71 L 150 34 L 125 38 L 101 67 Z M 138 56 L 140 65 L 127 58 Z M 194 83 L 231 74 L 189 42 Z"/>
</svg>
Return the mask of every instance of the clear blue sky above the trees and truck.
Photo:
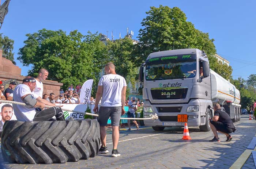
<svg viewBox="0 0 256 169">
<path fill-rule="evenodd" d="M 1 0 L 1 4 L 4 1 Z M 0 32 L 14 40 L 15 61 L 26 76 L 30 67 L 23 67 L 16 58 L 27 33 L 42 28 L 62 29 L 68 34 L 72 30 L 82 34 L 87 31 L 106 34 L 108 30 L 111 38 L 113 30 L 116 39 L 119 32 L 124 37 L 129 27 L 129 32 L 134 31 L 133 38 L 137 39 L 145 12 L 160 4 L 179 7 L 195 28 L 208 32 L 210 38 L 215 39 L 217 53 L 233 68 L 233 78 L 239 75 L 247 79 L 250 74 L 256 74 L 255 0 L 11 0 Z"/>
</svg>

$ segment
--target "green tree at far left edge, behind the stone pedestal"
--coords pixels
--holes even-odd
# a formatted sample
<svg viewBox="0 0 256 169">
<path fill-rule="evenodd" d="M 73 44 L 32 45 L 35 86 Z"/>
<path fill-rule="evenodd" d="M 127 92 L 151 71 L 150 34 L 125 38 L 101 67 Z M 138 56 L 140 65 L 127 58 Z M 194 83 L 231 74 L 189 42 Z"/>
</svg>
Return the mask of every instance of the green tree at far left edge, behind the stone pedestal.
<svg viewBox="0 0 256 169">
<path fill-rule="evenodd" d="M 9 59 L 14 65 L 16 65 L 16 62 L 14 61 L 14 53 L 12 53 L 14 40 L 7 36 L 3 37 L 2 35 L 3 34 L 0 34 L 0 46 L 3 49 L 3 57 Z"/>
</svg>

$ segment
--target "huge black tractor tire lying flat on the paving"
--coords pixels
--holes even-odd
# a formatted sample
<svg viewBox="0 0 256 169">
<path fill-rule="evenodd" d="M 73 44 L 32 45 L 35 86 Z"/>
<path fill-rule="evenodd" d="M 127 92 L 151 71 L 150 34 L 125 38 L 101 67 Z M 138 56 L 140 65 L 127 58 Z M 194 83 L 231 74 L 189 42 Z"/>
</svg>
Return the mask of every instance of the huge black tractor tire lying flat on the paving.
<svg viewBox="0 0 256 169">
<path fill-rule="evenodd" d="M 97 120 L 4 123 L 1 150 L 8 162 L 52 164 L 87 160 L 99 151 Z"/>
</svg>

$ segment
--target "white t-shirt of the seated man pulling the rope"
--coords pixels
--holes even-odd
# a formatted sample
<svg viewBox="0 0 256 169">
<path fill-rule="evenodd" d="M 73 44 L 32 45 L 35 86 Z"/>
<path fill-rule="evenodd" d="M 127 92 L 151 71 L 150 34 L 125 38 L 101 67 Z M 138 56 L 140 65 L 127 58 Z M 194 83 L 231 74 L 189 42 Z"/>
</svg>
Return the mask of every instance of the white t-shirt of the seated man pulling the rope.
<svg viewBox="0 0 256 169">
<path fill-rule="evenodd" d="M 30 88 L 25 84 L 19 84 L 14 89 L 13 100 L 24 103 L 21 97 L 27 94 L 32 94 L 30 91 Z M 26 106 L 17 105 L 17 104 L 12 104 L 12 106 L 13 106 L 14 114 L 18 121 L 26 122 L 26 121 L 32 121 L 34 119 L 35 108 L 26 107 Z"/>
</svg>

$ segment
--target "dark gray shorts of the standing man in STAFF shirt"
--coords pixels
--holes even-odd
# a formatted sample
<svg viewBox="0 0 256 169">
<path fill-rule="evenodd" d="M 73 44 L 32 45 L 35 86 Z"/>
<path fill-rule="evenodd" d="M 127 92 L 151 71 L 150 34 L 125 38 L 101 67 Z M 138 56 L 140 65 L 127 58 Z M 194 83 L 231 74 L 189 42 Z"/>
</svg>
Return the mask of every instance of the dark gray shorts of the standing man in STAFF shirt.
<svg viewBox="0 0 256 169">
<path fill-rule="evenodd" d="M 107 126 L 109 117 L 111 118 L 111 126 L 119 126 L 121 118 L 122 106 L 118 107 L 99 107 L 99 126 Z"/>
</svg>

